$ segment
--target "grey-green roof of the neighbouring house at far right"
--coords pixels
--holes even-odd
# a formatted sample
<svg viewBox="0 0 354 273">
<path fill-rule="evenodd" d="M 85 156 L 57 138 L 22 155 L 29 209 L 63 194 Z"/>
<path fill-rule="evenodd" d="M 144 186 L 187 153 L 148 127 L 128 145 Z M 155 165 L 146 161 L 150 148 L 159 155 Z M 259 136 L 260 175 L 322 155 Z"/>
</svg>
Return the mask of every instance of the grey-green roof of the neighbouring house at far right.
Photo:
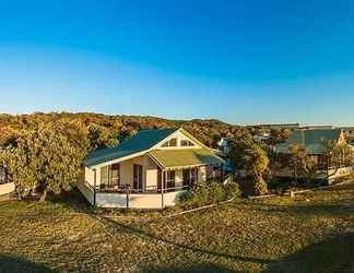
<svg viewBox="0 0 354 273">
<path fill-rule="evenodd" d="M 279 153 L 288 153 L 291 145 L 305 147 L 308 154 L 322 154 L 326 152 L 323 141 L 340 140 L 342 130 L 340 129 L 314 129 L 294 131 L 285 143 L 278 144 L 275 151 Z"/>
</svg>

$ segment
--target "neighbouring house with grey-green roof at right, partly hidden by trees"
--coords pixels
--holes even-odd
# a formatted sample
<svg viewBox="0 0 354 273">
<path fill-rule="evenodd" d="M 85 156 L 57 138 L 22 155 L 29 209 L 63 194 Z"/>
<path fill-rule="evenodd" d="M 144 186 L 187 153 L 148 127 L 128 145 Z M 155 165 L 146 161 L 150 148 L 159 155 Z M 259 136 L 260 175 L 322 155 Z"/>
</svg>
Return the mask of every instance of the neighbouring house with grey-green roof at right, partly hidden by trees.
<svg viewBox="0 0 354 273">
<path fill-rule="evenodd" d="M 314 129 L 294 131 L 285 143 L 275 146 L 275 153 L 290 153 L 291 145 L 297 145 L 305 149 L 307 156 L 315 159 L 317 168 L 317 179 L 328 179 L 329 181 L 340 176 L 347 175 L 351 166 L 333 166 L 331 158 L 328 156 L 326 141 L 332 142 L 334 145 L 345 144 L 344 133 L 340 129 Z M 293 170 L 283 168 L 275 174 L 278 177 L 292 177 Z"/>
</svg>

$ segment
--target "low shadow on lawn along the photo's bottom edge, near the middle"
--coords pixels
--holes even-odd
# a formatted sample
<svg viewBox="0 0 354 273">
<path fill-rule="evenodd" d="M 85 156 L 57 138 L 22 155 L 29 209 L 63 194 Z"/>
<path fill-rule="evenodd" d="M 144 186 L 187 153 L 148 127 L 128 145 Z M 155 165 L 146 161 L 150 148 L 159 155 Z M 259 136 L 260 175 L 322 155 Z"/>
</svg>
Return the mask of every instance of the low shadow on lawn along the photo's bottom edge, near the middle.
<svg viewBox="0 0 354 273">
<path fill-rule="evenodd" d="M 155 266 L 148 265 L 141 269 L 141 272 L 148 273 L 236 273 L 237 271 L 233 271 L 226 269 L 224 266 L 220 266 L 213 263 L 198 263 L 194 265 L 173 265 L 173 266 Z"/>
</svg>

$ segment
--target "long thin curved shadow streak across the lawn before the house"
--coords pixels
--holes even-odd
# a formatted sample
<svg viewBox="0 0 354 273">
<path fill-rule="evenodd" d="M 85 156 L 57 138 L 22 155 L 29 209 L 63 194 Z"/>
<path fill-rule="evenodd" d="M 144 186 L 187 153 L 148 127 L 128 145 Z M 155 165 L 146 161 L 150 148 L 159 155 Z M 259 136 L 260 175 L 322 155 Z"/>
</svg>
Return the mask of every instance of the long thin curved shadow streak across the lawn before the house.
<svg viewBox="0 0 354 273">
<path fill-rule="evenodd" d="M 129 234 L 135 234 L 135 235 L 138 235 L 140 237 L 143 237 L 143 238 L 152 239 L 152 240 L 155 240 L 155 241 L 161 241 L 161 242 L 164 242 L 164 244 L 172 245 L 172 246 L 174 246 L 176 248 L 181 248 L 181 249 L 185 249 L 185 250 L 191 250 L 193 252 L 198 252 L 198 253 L 201 253 L 201 254 L 209 254 L 209 256 L 214 256 L 214 257 L 239 260 L 239 261 L 245 261 L 245 262 L 262 263 L 262 264 L 270 263 L 272 261 L 272 260 L 259 259 L 259 258 L 253 258 L 253 257 L 234 256 L 234 254 L 229 254 L 229 253 L 226 253 L 226 252 L 217 252 L 217 251 L 212 251 L 212 250 L 208 250 L 208 249 L 197 248 L 197 247 L 193 247 L 193 246 L 186 246 L 186 245 L 182 245 L 182 244 L 169 240 L 169 239 L 157 237 L 156 235 L 148 233 L 148 232 L 145 232 L 145 230 L 143 230 L 141 228 L 135 228 L 135 227 L 132 227 L 132 226 L 129 226 L 129 225 L 123 225 L 123 224 L 117 223 L 117 222 L 115 222 L 115 221 L 113 221 L 110 218 L 107 218 L 107 217 L 99 217 L 99 218 L 105 221 L 106 223 L 108 223 L 109 226 L 115 229 L 115 232 L 126 232 L 126 233 L 129 233 Z"/>
</svg>

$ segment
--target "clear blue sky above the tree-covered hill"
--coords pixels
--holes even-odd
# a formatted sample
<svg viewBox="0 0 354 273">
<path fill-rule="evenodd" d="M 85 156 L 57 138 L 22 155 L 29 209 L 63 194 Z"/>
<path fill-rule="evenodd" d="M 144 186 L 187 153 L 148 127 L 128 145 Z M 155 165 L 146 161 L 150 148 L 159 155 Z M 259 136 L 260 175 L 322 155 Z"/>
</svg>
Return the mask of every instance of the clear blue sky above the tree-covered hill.
<svg viewBox="0 0 354 273">
<path fill-rule="evenodd" d="M 0 112 L 354 124 L 354 1 L 0 1 Z"/>
</svg>

